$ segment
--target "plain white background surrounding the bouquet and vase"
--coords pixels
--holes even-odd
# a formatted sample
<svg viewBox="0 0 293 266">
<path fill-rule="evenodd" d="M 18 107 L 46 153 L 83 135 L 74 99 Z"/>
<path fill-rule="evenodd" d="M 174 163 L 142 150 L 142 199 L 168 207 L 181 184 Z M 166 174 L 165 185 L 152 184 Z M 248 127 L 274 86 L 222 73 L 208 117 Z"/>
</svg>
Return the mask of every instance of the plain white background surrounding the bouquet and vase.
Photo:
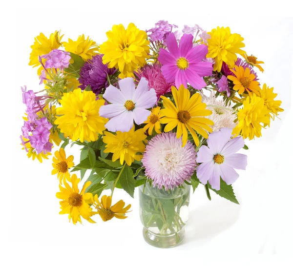
<svg viewBox="0 0 293 266">
<path fill-rule="evenodd" d="M 268 4 L 231 1 L 225 6 L 223 1 L 218 1 L 199 6 L 195 1 L 180 1 L 174 8 L 172 2 L 157 1 L 152 4 L 127 0 L 66 4 L 26 1 L 7 7 L 7 13 L 2 10 L 1 142 L 4 146 L 0 217 L 5 223 L 1 226 L 4 236 L 1 240 L 7 251 L 1 257 L 4 263 L 1 265 L 156 265 L 159 262 L 209 265 L 212 261 L 229 262 L 234 256 L 238 263 L 247 265 L 258 262 L 259 258 L 248 260 L 248 256 L 255 254 L 280 254 L 282 259 L 290 256 L 293 247 L 293 115 L 290 110 L 293 20 L 274 16 L 273 12 L 280 11 L 281 15 L 292 15 L 286 2 L 275 3 L 274 11 L 265 9 Z M 84 33 L 102 43 L 106 40 L 105 32 L 113 24 L 127 26 L 134 22 L 145 30 L 161 19 L 178 24 L 180 29 L 184 24 L 194 23 L 208 31 L 218 25 L 230 26 L 232 33 L 244 38 L 245 51 L 265 61 L 265 72 L 258 71 L 260 82 L 274 87 L 285 109 L 279 116 L 281 120 L 276 119 L 271 128 L 263 130 L 260 139 L 246 141 L 249 150 L 242 153 L 248 155 L 247 170 L 239 170 L 240 177 L 233 185 L 240 205 L 213 192 L 209 202 L 204 187 L 199 186 L 191 195 L 186 239 L 172 249 L 158 249 L 144 242 L 137 189 L 134 199 L 122 190 L 114 192 L 113 201 L 123 199 L 132 205 L 126 220 L 112 219 L 104 223 L 95 216 L 96 224 L 86 221 L 83 225 L 69 224 L 67 215 L 58 214 L 59 200 L 55 194 L 59 181 L 51 176 L 52 157 L 42 164 L 28 159 L 19 139 L 25 109 L 20 86 L 26 84 L 34 91 L 42 89 L 37 68 L 28 65 L 35 36 L 40 32 L 49 36 L 61 29 L 63 41 L 76 40 Z M 67 155 L 75 156 L 74 162 L 78 164 L 79 150 L 78 146 L 74 147 L 65 150 Z"/>
</svg>

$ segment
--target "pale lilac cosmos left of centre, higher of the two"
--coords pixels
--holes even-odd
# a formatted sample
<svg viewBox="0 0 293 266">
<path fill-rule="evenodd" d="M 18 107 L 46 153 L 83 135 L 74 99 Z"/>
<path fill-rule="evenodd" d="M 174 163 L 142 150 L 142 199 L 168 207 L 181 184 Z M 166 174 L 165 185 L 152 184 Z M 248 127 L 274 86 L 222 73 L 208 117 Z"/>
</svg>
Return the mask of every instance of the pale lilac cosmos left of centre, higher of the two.
<svg viewBox="0 0 293 266">
<path fill-rule="evenodd" d="M 103 97 L 111 104 L 100 107 L 101 117 L 110 118 L 105 127 L 112 132 L 128 132 L 133 121 L 136 124 L 144 123 L 151 108 L 157 102 L 154 89 L 148 89 L 148 82 L 142 78 L 135 89 L 132 78 L 125 78 L 118 82 L 119 88 L 110 85 L 106 88 Z"/>
</svg>

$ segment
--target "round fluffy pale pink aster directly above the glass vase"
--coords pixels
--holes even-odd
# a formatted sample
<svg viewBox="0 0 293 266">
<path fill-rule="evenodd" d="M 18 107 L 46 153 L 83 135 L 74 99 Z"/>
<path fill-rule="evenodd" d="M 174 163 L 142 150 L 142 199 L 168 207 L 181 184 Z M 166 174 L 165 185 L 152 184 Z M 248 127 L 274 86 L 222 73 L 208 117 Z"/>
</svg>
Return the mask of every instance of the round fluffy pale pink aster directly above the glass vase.
<svg viewBox="0 0 293 266">
<path fill-rule="evenodd" d="M 182 137 L 167 132 L 156 135 L 146 145 L 142 159 L 146 167 L 146 176 L 153 181 L 153 186 L 165 187 L 166 190 L 190 180 L 196 166 L 196 152 L 191 142 L 182 147 Z"/>
</svg>

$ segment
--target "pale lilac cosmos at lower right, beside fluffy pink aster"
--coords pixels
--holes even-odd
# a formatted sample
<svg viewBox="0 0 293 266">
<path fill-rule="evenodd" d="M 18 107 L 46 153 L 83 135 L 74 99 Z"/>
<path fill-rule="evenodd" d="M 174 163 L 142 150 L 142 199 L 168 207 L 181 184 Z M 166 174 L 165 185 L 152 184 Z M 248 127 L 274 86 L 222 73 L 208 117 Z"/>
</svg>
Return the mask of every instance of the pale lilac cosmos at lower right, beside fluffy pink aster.
<svg viewBox="0 0 293 266">
<path fill-rule="evenodd" d="M 209 134 L 208 146 L 201 146 L 197 152 L 196 169 L 198 179 L 202 184 L 209 184 L 212 188 L 220 189 L 220 177 L 226 184 L 232 184 L 239 177 L 235 169 L 245 170 L 247 156 L 236 153 L 244 147 L 242 137 L 231 140 L 232 129 L 225 127 Z"/>
</svg>

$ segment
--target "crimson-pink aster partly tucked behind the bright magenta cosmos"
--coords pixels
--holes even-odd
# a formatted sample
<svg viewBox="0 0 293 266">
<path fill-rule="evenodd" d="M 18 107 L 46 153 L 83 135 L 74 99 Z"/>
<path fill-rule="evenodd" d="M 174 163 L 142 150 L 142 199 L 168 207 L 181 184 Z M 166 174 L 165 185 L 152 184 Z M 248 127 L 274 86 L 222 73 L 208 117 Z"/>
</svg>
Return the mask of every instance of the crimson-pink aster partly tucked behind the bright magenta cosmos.
<svg viewBox="0 0 293 266">
<path fill-rule="evenodd" d="M 138 81 L 140 81 L 141 78 L 146 78 L 148 81 L 148 88 L 153 88 L 156 91 L 157 101 L 159 101 L 162 95 L 171 91 L 171 86 L 175 86 L 175 82 L 166 81 L 161 72 L 161 64 L 159 62 L 146 64 L 134 74 L 138 77 Z"/>
</svg>

